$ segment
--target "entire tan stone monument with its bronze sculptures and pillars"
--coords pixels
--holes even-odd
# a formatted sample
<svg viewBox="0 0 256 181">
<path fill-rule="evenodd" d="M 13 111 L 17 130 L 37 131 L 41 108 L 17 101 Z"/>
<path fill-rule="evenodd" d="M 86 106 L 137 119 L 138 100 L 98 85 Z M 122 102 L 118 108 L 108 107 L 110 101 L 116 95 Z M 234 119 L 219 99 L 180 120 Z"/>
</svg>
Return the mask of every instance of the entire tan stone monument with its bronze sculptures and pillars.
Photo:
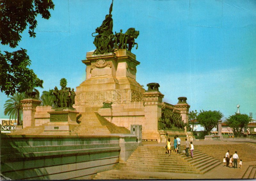
<svg viewBox="0 0 256 181">
<path fill-rule="evenodd" d="M 190 106 L 186 97 L 179 97 L 176 105 L 165 103 L 158 83 L 148 83 L 148 89 L 145 90 L 136 81 L 136 67 L 140 62 L 131 51 L 134 46 L 138 48 L 135 40 L 140 32 L 131 27 L 125 33 L 120 29 L 119 33 L 114 34 L 112 9 L 113 1 L 102 24 L 92 33 L 96 49 L 87 52 L 86 58 L 82 60 L 86 65 L 85 80 L 76 87 L 75 92 L 66 87 L 66 79 L 61 79 L 61 89 L 55 87 L 53 90 L 54 107 L 37 106 L 35 113 L 30 114 L 28 126 L 44 126 L 42 134 L 88 135 L 92 133 L 84 130 L 92 129 L 93 125 L 97 127 L 93 135 L 109 136 L 112 132 L 105 126 L 109 123 L 104 122 L 103 125 L 103 121 L 108 121 L 131 133 L 134 132 L 133 128 L 137 130 L 135 132 L 141 144 L 143 140 L 163 141 L 162 133 L 158 130 L 158 120 L 164 109 L 181 115 L 182 121 L 188 122 Z M 32 104 L 40 103 L 35 104 L 33 101 Z M 34 107 L 28 109 L 34 110 Z M 79 116 L 76 117 L 77 114 Z M 97 131 L 99 127 L 101 132 Z M 163 132 L 163 135 L 166 133 Z"/>
</svg>

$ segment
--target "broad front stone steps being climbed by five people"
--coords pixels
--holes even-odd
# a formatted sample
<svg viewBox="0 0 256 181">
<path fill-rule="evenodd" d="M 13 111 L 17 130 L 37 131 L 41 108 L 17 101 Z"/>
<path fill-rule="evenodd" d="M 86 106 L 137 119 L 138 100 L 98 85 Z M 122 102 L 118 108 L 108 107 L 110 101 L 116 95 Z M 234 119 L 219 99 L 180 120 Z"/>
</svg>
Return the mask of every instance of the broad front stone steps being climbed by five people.
<svg viewBox="0 0 256 181">
<path fill-rule="evenodd" d="M 113 170 L 108 170 L 98 173 L 94 179 L 129 179 L 124 175 L 127 171 L 204 174 L 221 164 L 219 160 L 197 149 L 193 153 L 194 158 L 192 159 L 184 154 L 174 154 L 173 152 L 169 156 L 169 154 L 165 154 L 164 147 L 139 146 L 126 162 L 119 162 L 115 167 L 115 170 L 122 170 L 122 173 L 111 174 Z M 155 177 L 145 175 L 132 177 L 132 179 L 150 178 Z"/>
</svg>

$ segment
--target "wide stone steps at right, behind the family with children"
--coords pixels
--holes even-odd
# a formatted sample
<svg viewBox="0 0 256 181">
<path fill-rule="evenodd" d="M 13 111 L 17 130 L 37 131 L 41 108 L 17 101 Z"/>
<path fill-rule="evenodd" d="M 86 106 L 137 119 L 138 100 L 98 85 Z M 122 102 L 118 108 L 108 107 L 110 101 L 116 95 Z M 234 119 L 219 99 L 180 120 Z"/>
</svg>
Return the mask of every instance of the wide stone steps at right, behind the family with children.
<svg viewBox="0 0 256 181">
<path fill-rule="evenodd" d="M 210 155 L 222 162 L 223 157 L 229 150 L 229 155 L 233 155 L 237 151 L 239 159 L 243 161 L 256 161 L 252 155 L 256 155 L 255 147 L 246 144 L 220 144 L 220 145 L 196 145 L 196 149 L 201 150 L 203 153 Z"/>
</svg>

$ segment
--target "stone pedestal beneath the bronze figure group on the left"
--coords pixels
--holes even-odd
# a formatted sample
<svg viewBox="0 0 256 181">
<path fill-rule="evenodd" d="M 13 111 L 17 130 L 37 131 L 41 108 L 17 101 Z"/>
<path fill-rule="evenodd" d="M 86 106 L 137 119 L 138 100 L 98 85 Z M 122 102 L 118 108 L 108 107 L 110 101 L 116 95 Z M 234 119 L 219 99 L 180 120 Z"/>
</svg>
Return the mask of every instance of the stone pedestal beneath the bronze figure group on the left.
<svg viewBox="0 0 256 181">
<path fill-rule="evenodd" d="M 76 109 L 73 108 L 58 108 L 48 112 L 50 114 L 50 123 L 44 126 L 45 132 L 71 132 L 77 126 Z"/>
</svg>

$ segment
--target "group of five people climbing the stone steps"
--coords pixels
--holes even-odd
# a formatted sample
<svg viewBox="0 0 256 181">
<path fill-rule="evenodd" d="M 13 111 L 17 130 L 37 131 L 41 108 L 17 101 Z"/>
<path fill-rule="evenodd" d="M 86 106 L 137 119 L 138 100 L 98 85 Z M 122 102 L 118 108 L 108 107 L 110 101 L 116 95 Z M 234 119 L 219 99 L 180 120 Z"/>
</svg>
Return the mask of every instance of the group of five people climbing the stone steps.
<svg viewBox="0 0 256 181">
<path fill-rule="evenodd" d="M 174 140 L 173 140 L 173 147 L 174 147 L 174 152 L 176 154 L 180 154 L 180 143 L 181 140 L 179 138 L 179 135 L 174 136 Z M 166 153 L 168 153 L 169 155 L 171 155 L 171 139 L 168 138 L 167 144 L 165 146 L 166 148 Z M 188 153 L 188 149 L 190 148 L 190 154 L 191 154 L 191 158 L 193 158 L 193 150 L 194 150 L 194 145 L 193 142 L 191 141 L 189 143 L 188 139 L 185 139 L 185 147 L 184 150 L 186 152 L 186 156 L 189 157 L 189 153 Z"/>
</svg>

